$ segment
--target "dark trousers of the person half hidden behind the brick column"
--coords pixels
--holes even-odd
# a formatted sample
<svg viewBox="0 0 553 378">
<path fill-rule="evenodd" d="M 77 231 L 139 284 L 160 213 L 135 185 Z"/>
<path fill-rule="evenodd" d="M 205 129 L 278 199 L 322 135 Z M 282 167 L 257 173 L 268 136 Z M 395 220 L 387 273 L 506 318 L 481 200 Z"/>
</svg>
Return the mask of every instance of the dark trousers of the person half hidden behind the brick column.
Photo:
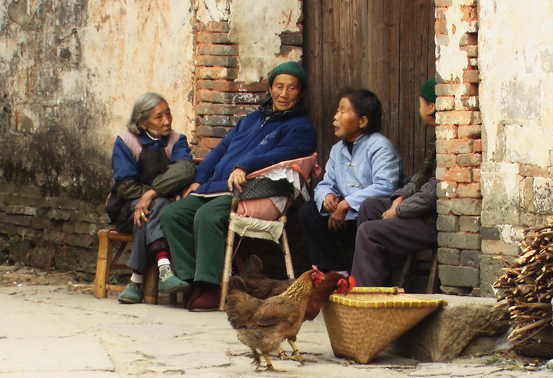
<svg viewBox="0 0 553 378">
<path fill-rule="evenodd" d="M 387 199 L 365 199 L 358 215 L 358 231 L 351 275 L 357 286 L 391 285 L 390 261 L 437 245 L 435 225 L 421 218 L 382 219 Z"/>
</svg>

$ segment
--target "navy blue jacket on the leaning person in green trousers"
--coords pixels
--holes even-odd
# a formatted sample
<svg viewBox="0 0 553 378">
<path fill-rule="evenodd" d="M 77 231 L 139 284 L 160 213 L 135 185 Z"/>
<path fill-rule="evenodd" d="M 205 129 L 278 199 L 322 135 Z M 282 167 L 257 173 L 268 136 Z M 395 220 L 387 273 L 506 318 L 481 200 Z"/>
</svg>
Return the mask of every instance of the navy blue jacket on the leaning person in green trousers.
<svg viewBox="0 0 553 378">
<path fill-rule="evenodd" d="M 195 192 L 229 192 L 227 181 L 236 167 L 250 174 L 278 162 L 309 156 L 317 149 L 317 133 L 308 116 L 291 111 L 264 121 L 261 108 L 244 116 L 196 170 L 202 186 Z"/>
</svg>

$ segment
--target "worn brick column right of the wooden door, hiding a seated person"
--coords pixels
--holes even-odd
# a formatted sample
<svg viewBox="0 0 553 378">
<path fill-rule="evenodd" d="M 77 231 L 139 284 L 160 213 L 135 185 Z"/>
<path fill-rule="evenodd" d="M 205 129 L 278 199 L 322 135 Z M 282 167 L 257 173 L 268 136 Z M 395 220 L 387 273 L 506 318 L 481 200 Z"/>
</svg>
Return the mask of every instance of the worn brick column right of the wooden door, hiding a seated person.
<svg viewBox="0 0 553 378">
<path fill-rule="evenodd" d="M 443 292 L 479 295 L 482 140 L 476 0 L 436 0 L 435 5 L 437 50 L 452 48 L 450 44 L 458 40 L 459 50 L 467 57 L 466 64 L 457 70 L 462 75 L 453 76 L 454 79 L 442 79 L 440 66 L 437 70 L 439 278 Z M 457 9 L 448 13 L 451 7 Z M 461 18 L 452 20 L 455 15 Z M 455 35 L 459 25 L 466 30 L 461 38 Z M 448 59 L 446 54 L 438 56 Z M 460 64 L 458 60 L 441 63 Z"/>
</svg>

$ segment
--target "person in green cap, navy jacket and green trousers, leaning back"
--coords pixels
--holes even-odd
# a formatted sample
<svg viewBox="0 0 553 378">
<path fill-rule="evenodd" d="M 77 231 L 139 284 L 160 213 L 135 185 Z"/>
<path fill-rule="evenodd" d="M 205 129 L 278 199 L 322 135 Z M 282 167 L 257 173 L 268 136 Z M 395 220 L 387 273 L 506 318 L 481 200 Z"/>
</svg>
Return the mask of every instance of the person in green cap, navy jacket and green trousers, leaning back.
<svg viewBox="0 0 553 378">
<path fill-rule="evenodd" d="M 282 63 L 268 84 L 261 107 L 236 123 L 199 164 L 183 198 L 162 213 L 176 274 L 193 287 L 188 310 L 218 310 L 234 188 L 241 191 L 252 172 L 317 149 L 315 127 L 301 107 L 308 84 L 303 67 L 295 61 Z"/>
</svg>

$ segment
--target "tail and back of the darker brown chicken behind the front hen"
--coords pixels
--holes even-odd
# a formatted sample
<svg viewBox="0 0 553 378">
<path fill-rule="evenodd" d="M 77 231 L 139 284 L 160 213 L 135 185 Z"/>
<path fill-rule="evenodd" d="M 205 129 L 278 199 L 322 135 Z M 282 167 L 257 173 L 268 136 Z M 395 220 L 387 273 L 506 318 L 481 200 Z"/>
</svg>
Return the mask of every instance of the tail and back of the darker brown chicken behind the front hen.
<svg viewBox="0 0 553 378">
<path fill-rule="evenodd" d="M 243 291 L 259 299 L 282 294 L 294 282 L 294 278 L 289 280 L 267 278 L 263 273 L 263 263 L 256 255 L 250 255 L 244 260 L 240 277 L 244 280 Z"/>
</svg>

